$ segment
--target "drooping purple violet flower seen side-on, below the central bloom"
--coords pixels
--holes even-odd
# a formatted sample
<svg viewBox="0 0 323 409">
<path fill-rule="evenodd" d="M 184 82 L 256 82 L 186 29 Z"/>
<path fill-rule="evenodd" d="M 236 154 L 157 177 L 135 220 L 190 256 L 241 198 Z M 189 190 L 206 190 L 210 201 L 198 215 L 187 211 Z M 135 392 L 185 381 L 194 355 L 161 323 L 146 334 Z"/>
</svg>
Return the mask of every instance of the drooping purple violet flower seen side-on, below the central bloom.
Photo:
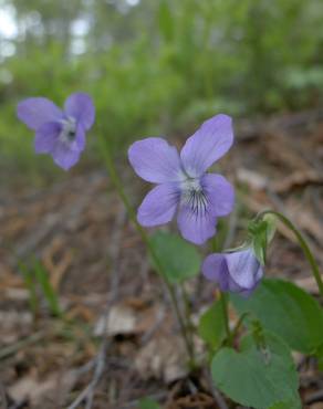
<svg viewBox="0 0 323 409">
<path fill-rule="evenodd" d="M 233 253 L 213 253 L 202 264 L 204 275 L 221 291 L 249 296 L 260 282 L 263 270 L 251 248 Z"/>
</svg>

